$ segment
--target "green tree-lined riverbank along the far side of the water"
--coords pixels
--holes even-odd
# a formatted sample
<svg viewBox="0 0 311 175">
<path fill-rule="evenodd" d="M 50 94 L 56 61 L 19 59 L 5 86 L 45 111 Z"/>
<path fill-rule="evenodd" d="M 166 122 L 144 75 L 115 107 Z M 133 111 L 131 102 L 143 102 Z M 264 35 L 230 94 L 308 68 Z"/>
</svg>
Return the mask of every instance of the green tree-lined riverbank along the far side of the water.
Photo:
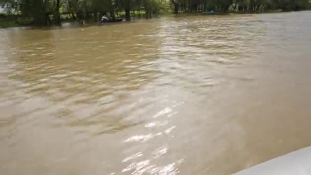
<svg viewBox="0 0 311 175">
<path fill-rule="evenodd" d="M 309 0 L 0 0 L 0 26 L 60 25 L 64 20 L 100 20 L 104 14 L 130 20 L 163 13 L 254 13 L 310 9 Z"/>
</svg>

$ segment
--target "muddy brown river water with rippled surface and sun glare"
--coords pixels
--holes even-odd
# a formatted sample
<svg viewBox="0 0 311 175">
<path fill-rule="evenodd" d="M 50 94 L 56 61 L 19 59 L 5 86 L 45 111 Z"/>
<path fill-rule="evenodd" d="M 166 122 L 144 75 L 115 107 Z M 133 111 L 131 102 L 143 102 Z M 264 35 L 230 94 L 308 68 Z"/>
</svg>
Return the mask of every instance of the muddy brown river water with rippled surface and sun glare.
<svg viewBox="0 0 311 175">
<path fill-rule="evenodd" d="M 0 174 L 231 174 L 311 145 L 311 12 L 0 30 Z"/>
</svg>

